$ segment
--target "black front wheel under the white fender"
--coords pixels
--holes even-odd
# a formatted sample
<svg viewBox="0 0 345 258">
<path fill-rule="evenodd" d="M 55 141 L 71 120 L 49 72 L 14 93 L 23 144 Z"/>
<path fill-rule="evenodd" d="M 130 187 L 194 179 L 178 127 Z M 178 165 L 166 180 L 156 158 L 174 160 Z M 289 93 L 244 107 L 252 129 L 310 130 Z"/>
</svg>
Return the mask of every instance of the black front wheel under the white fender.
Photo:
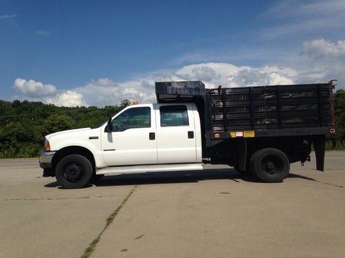
<svg viewBox="0 0 345 258">
<path fill-rule="evenodd" d="M 82 155 L 68 155 L 57 164 L 55 176 L 64 189 L 78 189 L 86 186 L 92 178 L 90 160 Z"/>
</svg>

